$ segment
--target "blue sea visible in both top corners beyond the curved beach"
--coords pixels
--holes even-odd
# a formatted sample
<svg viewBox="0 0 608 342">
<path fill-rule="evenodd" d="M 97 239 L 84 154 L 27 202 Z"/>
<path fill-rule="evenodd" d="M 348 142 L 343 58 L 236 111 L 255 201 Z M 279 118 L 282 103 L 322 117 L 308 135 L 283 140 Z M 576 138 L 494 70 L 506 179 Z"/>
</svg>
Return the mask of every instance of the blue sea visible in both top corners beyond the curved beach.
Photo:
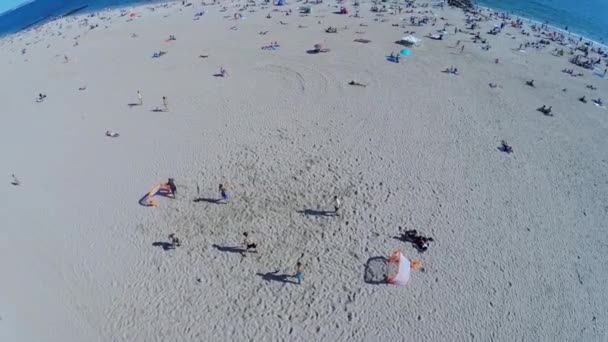
<svg viewBox="0 0 608 342">
<path fill-rule="evenodd" d="M 82 8 L 95 11 L 107 7 L 159 2 L 158 0 L 0 0 L 0 35 Z M 25 4 L 23 4 L 25 3 Z M 548 23 L 608 43 L 608 0 L 477 0 L 480 6 Z M 23 4 L 22 6 L 19 6 Z M 17 8 L 15 8 L 17 7 Z M 8 10 L 9 8 L 14 8 Z M 6 11 L 8 10 L 8 11 Z"/>
</svg>

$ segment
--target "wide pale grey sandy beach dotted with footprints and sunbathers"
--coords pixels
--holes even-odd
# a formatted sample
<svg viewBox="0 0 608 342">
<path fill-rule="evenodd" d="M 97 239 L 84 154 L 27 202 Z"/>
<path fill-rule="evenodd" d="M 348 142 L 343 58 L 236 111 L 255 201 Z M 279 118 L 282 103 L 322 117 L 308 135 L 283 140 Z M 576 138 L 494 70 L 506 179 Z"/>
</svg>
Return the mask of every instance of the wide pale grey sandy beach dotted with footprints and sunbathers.
<svg viewBox="0 0 608 342">
<path fill-rule="evenodd" d="M 518 51 L 538 40 L 518 29 L 485 34 L 499 20 L 481 22 L 484 51 L 453 26 L 424 38 L 441 20 L 410 27 L 369 3 L 363 18 L 291 3 L 241 20 L 225 5 L 108 10 L 2 39 L 0 340 L 608 338 L 608 111 L 591 103 L 608 100 L 608 78 L 554 43 Z M 424 11 L 465 26 L 460 10 Z M 411 30 L 422 44 L 388 62 Z M 307 53 L 316 43 L 331 51 Z M 129 106 L 137 90 L 143 105 Z M 163 96 L 169 111 L 153 111 Z M 176 199 L 138 203 L 168 177 Z M 227 204 L 198 200 L 220 183 Z M 340 216 L 311 214 L 334 196 Z M 435 241 L 421 254 L 399 227 Z M 221 248 L 244 231 L 257 254 Z M 182 246 L 155 244 L 170 233 Z M 366 262 L 396 249 L 421 262 L 409 284 L 366 283 Z M 301 285 L 273 280 L 298 260 Z"/>
</svg>

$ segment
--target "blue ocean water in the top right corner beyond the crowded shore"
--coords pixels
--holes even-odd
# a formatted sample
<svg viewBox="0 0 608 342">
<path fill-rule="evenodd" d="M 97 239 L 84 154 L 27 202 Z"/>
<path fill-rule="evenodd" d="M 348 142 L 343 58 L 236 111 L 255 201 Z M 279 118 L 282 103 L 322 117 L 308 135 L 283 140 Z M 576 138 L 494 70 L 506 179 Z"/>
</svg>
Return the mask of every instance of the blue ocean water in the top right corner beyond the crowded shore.
<svg viewBox="0 0 608 342">
<path fill-rule="evenodd" d="M 476 3 L 560 29 L 568 27 L 572 33 L 608 44 L 608 0 L 477 0 Z"/>
</svg>

